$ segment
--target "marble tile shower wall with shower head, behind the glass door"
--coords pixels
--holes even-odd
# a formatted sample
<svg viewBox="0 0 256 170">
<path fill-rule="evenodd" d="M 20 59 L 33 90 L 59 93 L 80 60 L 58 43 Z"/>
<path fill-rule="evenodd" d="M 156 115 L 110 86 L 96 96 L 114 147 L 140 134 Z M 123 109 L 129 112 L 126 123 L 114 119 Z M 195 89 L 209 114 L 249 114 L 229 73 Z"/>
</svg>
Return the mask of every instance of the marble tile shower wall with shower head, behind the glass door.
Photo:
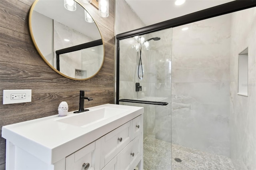
<svg viewBox="0 0 256 170">
<path fill-rule="evenodd" d="M 150 41 L 150 50 L 142 49 L 144 77 L 138 79 L 136 60 L 138 52 L 132 49 L 132 38 L 120 41 L 120 99 L 142 97 L 162 97 L 161 101 L 171 103 L 171 54 L 172 29 L 144 35 L 145 39 L 160 37 Z M 139 82 L 142 91 L 135 91 Z M 150 136 L 171 142 L 171 105 L 156 106 L 123 103 L 144 107 L 144 137 Z"/>
</svg>

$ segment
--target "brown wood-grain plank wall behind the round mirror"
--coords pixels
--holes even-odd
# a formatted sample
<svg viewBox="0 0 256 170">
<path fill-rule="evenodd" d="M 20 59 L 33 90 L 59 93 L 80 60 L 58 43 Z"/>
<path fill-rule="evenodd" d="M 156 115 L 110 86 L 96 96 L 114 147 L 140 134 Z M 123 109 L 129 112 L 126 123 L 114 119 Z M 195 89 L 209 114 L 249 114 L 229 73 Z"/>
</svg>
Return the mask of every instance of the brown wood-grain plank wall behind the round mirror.
<svg viewBox="0 0 256 170">
<path fill-rule="evenodd" d="M 101 18 L 92 5 L 84 6 L 96 21 L 105 45 L 102 69 L 86 81 L 59 75 L 38 55 L 28 30 L 33 2 L 0 0 L 0 134 L 4 125 L 58 114 L 61 101 L 68 103 L 69 111 L 78 110 L 80 90 L 89 90 L 86 96 L 94 99 L 85 101 L 85 107 L 114 103 L 114 0 L 109 1 L 108 18 Z M 3 105 L 4 89 L 32 89 L 32 102 Z M 0 137 L 0 170 L 5 169 L 5 147 L 6 141 Z"/>
</svg>

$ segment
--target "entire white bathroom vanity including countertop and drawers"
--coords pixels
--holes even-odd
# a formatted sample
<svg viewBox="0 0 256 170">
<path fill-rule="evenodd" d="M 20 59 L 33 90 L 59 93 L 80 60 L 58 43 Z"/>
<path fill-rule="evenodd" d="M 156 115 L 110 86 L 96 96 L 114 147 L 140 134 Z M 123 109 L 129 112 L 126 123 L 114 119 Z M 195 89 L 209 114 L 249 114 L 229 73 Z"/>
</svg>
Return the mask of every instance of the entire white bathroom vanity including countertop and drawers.
<svg viewBox="0 0 256 170">
<path fill-rule="evenodd" d="M 143 170 L 144 109 L 113 104 L 88 109 L 4 126 L 6 170 L 134 170 L 137 165 Z M 62 121 L 99 110 L 113 116 L 88 126 Z"/>
</svg>

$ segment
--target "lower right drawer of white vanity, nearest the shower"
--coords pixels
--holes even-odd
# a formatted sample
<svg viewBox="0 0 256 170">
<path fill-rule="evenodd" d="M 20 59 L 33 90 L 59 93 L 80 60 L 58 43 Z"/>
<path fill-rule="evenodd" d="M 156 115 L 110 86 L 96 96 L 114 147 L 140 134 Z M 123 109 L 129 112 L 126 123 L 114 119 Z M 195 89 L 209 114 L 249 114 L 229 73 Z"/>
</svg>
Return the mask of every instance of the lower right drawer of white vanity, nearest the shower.
<svg viewBox="0 0 256 170">
<path fill-rule="evenodd" d="M 140 136 L 130 142 L 117 156 L 118 170 L 133 170 L 141 160 Z"/>
</svg>

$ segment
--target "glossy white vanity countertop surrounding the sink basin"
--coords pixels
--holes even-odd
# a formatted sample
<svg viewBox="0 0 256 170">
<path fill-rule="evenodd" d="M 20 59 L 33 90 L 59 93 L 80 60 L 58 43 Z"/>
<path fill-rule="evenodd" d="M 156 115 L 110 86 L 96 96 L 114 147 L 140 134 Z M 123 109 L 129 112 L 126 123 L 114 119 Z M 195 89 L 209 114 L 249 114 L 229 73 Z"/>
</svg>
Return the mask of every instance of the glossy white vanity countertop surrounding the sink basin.
<svg viewBox="0 0 256 170">
<path fill-rule="evenodd" d="M 104 107 L 127 109 L 128 111 L 86 127 L 78 127 L 57 121 L 78 114 L 89 114 L 90 111 Z M 7 125 L 2 127 L 2 137 L 47 164 L 54 164 L 144 113 L 143 107 L 114 104 L 100 105 L 86 109 L 90 111 L 76 114 L 72 111 L 65 117 L 54 115 Z"/>
</svg>

